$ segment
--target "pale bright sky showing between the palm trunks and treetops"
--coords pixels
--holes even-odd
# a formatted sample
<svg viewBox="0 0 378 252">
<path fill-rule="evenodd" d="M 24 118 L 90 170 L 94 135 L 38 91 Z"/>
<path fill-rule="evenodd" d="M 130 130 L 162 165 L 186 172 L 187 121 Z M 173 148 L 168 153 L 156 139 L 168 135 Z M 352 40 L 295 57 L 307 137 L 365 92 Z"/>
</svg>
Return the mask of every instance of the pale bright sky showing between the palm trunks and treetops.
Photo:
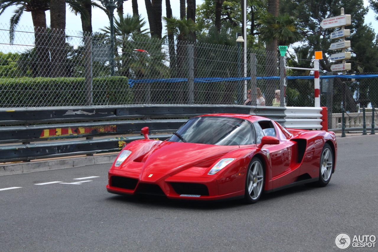
<svg viewBox="0 0 378 252">
<path fill-rule="evenodd" d="M 173 12 L 173 16 L 179 17 L 180 16 L 180 2 L 178 0 L 171 0 L 171 8 Z M 203 3 L 203 0 L 196 0 L 196 4 L 200 5 Z M 367 6 L 368 0 L 364 0 L 365 6 Z M 1 16 L 0 16 L 0 24 L 2 27 L 4 25 L 8 25 L 10 17 L 13 15 L 13 11 L 15 8 L 8 8 Z M 144 5 L 144 0 L 138 0 L 138 9 L 139 14 L 144 17 L 144 21 L 146 21 L 148 26 L 148 19 L 147 19 L 147 12 L 146 7 Z M 115 11 L 116 13 L 116 11 Z M 124 2 L 124 13 L 132 14 L 132 5 L 131 0 Z M 75 16 L 70 9 L 67 8 L 67 18 L 66 18 L 66 29 L 70 31 L 80 31 L 81 30 L 81 20 L 80 16 Z M 163 1 L 163 16 L 166 16 L 166 6 L 165 1 Z M 375 32 L 378 33 L 378 21 L 375 20 L 375 13 L 370 9 L 369 13 L 365 17 L 365 23 L 372 23 L 372 27 L 375 29 Z M 46 22 L 47 25 L 50 25 L 50 11 L 46 11 Z M 33 24 L 31 20 L 30 12 L 24 12 L 22 19 L 20 20 L 20 26 L 29 26 L 31 27 Z M 108 26 L 109 20 L 106 14 L 98 8 L 93 9 L 92 11 L 92 26 L 93 31 L 99 31 L 99 28 L 103 28 L 104 26 Z M 21 28 L 21 27 L 20 27 Z M 146 27 L 148 28 L 148 27 Z"/>
</svg>

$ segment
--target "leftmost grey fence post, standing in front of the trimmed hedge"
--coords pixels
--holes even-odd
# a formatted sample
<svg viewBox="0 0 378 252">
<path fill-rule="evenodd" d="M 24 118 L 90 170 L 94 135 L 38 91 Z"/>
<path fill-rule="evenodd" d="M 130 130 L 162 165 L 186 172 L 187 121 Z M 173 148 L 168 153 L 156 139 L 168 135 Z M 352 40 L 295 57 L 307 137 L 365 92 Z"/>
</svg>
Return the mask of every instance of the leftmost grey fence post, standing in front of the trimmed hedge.
<svg viewBox="0 0 378 252">
<path fill-rule="evenodd" d="M 93 105 L 92 36 L 85 36 L 85 105 Z"/>
</svg>

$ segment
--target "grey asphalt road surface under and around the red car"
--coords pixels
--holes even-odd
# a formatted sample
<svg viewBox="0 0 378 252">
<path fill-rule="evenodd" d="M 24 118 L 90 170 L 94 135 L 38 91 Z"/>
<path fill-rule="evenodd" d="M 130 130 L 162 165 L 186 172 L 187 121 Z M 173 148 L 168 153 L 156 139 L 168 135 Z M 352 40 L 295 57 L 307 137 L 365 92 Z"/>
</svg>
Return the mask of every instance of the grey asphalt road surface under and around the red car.
<svg viewBox="0 0 378 252">
<path fill-rule="evenodd" d="M 289 188 L 254 205 L 110 194 L 109 165 L 0 176 L 0 189 L 20 187 L 0 190 L 0 251 L 339 251 L 338 233 L 378 236 L 377 140 L 337 138 L 327 187 Z M 56 183 L 36 185 L 46 182 Z"/>
</svg>

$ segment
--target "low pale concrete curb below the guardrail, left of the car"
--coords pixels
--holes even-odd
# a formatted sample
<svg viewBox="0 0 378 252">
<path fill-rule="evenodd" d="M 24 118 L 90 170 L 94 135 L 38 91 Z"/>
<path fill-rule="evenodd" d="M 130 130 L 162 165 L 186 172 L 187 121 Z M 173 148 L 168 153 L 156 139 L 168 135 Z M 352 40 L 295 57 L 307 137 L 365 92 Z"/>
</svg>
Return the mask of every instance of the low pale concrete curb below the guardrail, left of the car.
<svg viewBox="0 0 378 252">
<path fill-rule="evenodd" d="M 43 160 L 35 162 L 22 162 L 0 165 L 0 176 L 18 173 L 29 173 L 32 171 L 47 171 L 61 168 L 70 168 L 84 165 L 98 165 L 102 163 L 113 163 L 118 154 L 101 156 L 72 157 L 67 159 Z"/>
</svg>

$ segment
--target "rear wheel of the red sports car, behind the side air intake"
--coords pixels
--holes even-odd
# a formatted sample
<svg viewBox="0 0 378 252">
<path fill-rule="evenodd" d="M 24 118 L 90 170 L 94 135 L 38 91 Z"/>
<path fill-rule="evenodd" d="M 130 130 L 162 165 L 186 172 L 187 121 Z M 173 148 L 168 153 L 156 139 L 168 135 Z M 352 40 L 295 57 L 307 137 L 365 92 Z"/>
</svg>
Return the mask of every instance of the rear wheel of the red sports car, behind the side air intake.
<svg viewBox="0 0 378 252">
<path fill-rule="evenodd" d="M 325 187 L 331 180 L 333 171 L 333 153 L 331 146 L 326 143 L 323 146 L 319 164 L 319 181 L 318 185 Z"/>
</svg>

